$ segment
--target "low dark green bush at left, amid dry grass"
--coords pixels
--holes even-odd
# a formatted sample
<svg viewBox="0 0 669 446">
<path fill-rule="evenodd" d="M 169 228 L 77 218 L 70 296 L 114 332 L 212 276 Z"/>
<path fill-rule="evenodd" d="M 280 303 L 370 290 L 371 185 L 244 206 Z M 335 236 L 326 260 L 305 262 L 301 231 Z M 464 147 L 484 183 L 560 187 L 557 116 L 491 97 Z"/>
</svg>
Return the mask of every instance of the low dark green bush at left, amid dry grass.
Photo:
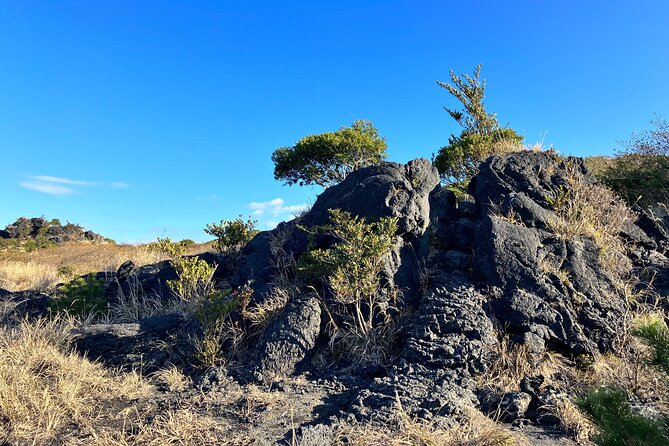
<svg viewBox="0 0 669 446">
<path fill-rule="evenodd" d="M 51 311 L 87 316 L 107 308 L 104 282 L 90 273 L 58 288 L 57 297 L 49 301 Z"/>
</svg>

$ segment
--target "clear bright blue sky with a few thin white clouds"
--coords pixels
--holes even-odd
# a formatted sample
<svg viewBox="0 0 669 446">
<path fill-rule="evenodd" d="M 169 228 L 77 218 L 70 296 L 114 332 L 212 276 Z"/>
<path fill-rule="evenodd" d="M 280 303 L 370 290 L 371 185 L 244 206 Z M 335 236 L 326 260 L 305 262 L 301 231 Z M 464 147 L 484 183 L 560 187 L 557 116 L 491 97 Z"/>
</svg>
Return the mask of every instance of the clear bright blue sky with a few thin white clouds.
<svg viewBox="0 0 669 446">
<path fill-rule="evenodd" d="M 0 226 L 122 242 L 290 218 L 271 153 L 371 120 L 389 157 L 460 129 L 435 81 L 483 64 L 500 121 L 610 154 L 669 106 L 669 2 L 0 0 Z"/>
</svg>

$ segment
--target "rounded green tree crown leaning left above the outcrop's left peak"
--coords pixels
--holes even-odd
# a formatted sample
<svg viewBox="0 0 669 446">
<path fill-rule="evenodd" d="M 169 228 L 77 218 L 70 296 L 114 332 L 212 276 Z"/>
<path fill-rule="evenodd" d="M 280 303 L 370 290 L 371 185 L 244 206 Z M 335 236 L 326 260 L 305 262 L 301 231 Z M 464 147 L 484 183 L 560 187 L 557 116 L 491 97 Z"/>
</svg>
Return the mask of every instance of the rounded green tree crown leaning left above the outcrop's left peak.
<svg viewBox="0 0 669 446">
<path fill-rule="evenodd" d="M 354 121 L 336 132 L 308 135 L 272 154 L 274 178 L 288 185 L 332 186 L 351 172 L 387 157 L 386 140 L 369 121 Z"/>
</svg>

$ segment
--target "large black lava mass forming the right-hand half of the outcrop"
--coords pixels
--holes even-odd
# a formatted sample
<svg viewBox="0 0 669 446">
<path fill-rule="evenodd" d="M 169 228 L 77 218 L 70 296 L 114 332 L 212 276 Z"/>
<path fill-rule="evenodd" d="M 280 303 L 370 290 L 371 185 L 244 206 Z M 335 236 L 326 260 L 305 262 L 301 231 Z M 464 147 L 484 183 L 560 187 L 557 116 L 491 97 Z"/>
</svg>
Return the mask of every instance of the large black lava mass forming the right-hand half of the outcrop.
<svg viewBox="0 0 669 446">
<path fill-rule="evenodd" d="M 480 213 L 474 265 L 499 290 L 491 307 L 512 334 L 568 354 L 596 354 L 612 348 L 625 302 L 592 240 L 564 240 L 550 229 L 556 216 L 546 197 L 568 184 L 566 163 L 578 167 L 582 181 L 595 182 L 579 160 L 549 153 L 483 163 L 471 185 Z M 499 209 L 512 209 L 520 221 L 500 218 Z"/>
</svg>

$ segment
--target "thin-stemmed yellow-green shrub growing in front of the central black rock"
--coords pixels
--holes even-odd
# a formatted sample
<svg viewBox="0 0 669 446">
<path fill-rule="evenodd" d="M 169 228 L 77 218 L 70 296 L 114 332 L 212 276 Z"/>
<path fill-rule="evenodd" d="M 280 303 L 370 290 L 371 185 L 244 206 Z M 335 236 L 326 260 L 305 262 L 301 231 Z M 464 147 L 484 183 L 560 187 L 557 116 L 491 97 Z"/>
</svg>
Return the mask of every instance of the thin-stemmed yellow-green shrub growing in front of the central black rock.
<svg viewBox="0 0 669 446">
<path fill-rule="evenodd" d="M 388 339 L 386 328 L 391 309 L 381 293 L 383 262 L 395 243 L 397 218 L 385 217 L 375 223 L 331 209 L 330 223 L 312 228 L 332 235 L 336 242 L 328 249 L 312 249 L 300 258 L 299 270 L 307 276 L 322 277 L 332 290 L 330 314 L 338 321 L 333 339 L 345 343 L 345 354 L 360 361 L 378 362 L 378 347 Z M 341 323 L 341 327 L 337 327 Z"/>
</svg>

